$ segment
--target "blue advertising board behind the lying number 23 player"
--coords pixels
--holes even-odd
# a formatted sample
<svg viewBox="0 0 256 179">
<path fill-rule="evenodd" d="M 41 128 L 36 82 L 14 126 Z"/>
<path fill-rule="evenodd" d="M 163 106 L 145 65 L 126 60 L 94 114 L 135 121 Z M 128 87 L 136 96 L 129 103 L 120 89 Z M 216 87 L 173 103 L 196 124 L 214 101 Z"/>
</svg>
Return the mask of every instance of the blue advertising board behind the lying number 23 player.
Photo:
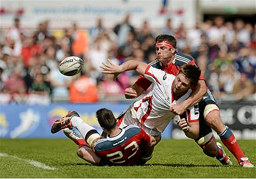
<svg viewBox="0 0 256 179">
<path fill-rule="evenodd" d="M 96 128 L 100 134 L 101 127 L 95 117 L 100 108 L 113 111 L 115 117 L 126 110 L 127 103 L 92 103 L 69 104 L 52 103 L 49 106 L 30 105 L 1 105 L 0 111 L 0 137 L 1 138 L 63 138 L 63 132 L 51 133 L 51 125 L 56 119 L 67 114 L 68 111 L 77 111 L 83 121 Z M 165 129 L 163 138 L 171 137 L 171 126 Z"/>
</svg>

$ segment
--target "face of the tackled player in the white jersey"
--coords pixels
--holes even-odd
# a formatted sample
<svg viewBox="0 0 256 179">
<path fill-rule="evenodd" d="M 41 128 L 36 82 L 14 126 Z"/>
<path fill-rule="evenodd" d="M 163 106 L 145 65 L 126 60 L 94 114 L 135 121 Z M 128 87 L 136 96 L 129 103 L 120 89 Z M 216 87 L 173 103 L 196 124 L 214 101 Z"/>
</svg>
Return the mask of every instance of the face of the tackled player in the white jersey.
<svg viewBox="0 0 256 179">
<path fill-rule="evenodd" d="M 184 94 L 190 88 L 191 80 L 185 77 L 183 73 L 179 73 L 175 79 L 174 84 L 172 86 L 172 90 L 174 94 Z"/>
</svg>

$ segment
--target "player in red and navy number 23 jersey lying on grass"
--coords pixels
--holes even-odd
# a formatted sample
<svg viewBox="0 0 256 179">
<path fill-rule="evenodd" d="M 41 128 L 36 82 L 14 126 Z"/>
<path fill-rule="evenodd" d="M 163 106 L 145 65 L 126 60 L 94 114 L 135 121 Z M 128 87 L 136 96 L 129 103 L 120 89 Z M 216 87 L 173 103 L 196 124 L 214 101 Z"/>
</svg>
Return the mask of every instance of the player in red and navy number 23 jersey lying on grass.
<svg viewBox="0 0 256 179">
<path fill-rule="evenodd" d="M 134 125 L 119 128 L 112 111 L 106 108 L 96 111 L 96 118 L 107 133 L 106 138 L 86 124 L 75 111 L 70 111 L 64 118 L 56 120 L 51 132 L 56 133 L 64 128 L 64 134 L 78 145 L 77 155 L 94 165 L 133 166 L 150 160 L 152 156 L 144 156 L 144 150 L 153 139 L 142 128 Z M 69 122 L 63 125 L 60 121 Z M 76 128 L 80 135 L 73 128 Z M 119 156 L 116 157 L 117 155 Z"/>
</svg>

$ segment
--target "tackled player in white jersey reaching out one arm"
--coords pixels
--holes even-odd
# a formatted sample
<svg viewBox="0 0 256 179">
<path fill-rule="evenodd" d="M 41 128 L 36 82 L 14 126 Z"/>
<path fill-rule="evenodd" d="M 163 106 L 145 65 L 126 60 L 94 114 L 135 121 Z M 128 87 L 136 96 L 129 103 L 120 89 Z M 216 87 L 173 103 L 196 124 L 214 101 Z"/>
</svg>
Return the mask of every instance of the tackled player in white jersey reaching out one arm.
<svg viewBox="0 0 256 179">
<path fill-rule="evenodd" d="M 129 124 L 137 125 L 144 129 L 149 136 L 161 136 L 170 120 L 175 114 L 169 109 L 174 104 L 183 102 L 192 92 L 190 87 L 197 84 L 201 71 L 194 65 L 186 64 L 179 74 L 167 74 L 166 72 L 153 68 L 146 63 L 129 60 L 122 65 L 102 63 L 102 73 L 114 74 L 115 78 L 124 71 L 135 70 L 146 77 L 153 84 L 152 89 L 143 99 L 134 102 L 120 117 L 120 127 Z M 189 138 L 197 138 L 199 134 L 199 112 L 198 105 L 191 106 L 181 117 L 179 127 L 183 129 Z M 155 138 L 155 144 L 160 138 Z"/>
</svg>

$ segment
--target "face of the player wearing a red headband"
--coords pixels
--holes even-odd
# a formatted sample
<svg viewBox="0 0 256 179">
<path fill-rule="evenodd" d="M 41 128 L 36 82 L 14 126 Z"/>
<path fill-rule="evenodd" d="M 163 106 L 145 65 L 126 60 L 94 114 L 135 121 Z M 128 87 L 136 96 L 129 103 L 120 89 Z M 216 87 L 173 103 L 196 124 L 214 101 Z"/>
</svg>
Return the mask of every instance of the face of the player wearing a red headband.
<svg viewBox="0 0 256 179">
<path fill-rule="evenodd" d="M 165 45 L 155 46 L 155 56 L 165 66 L 167 66 L 174 59 L 174 52 L 175 49 L 167 47 Z"/>
</svg>

